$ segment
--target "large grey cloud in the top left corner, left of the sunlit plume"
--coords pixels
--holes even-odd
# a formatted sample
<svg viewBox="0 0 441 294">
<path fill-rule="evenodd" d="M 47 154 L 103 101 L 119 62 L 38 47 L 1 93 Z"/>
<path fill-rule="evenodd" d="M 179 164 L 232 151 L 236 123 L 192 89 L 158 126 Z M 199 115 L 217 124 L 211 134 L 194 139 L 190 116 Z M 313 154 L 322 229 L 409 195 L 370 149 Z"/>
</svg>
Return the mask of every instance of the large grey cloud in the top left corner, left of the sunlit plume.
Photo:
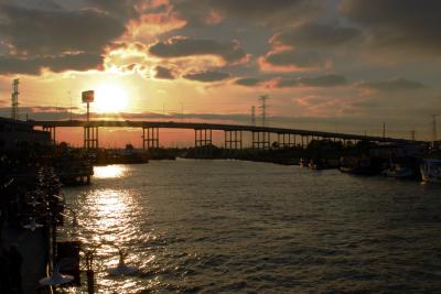
<svg viewBox="0 0 441 294">
<path fill-rule="evenodd" d="M 1 74 L 87 70 L 103 64 L 104 47 L 125 32 L 125 24 L 96 9 L 31 8 L 0 2 Z"/>
</svg>

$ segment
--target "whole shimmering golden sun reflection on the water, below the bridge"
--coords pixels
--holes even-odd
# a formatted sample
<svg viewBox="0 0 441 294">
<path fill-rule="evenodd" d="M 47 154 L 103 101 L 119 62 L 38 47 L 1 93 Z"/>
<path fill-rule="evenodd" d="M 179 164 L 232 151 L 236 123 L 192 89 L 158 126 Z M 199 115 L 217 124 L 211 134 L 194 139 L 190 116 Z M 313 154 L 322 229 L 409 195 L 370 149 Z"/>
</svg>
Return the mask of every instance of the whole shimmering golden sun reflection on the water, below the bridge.
<svg viewBox="0 0 441 294">
<path fill-rule="evenodd" d="M 98 292 L 138 293 L 158 287 L 160 281 L 155 276 L 143 276 L 158 262 L 157 252 L 148 249 L 149 241 L 157 240 L 158 236 L 144 227 L 148 207 L 140 205 L 144 196 L 127 184 L 132 167 L 97 166 L 94 172 L 100 181 L 89 186 L 85 194 L 71 197 L 71 202 L 76 207 L 79 222 L 76 240 L 82 242 L 85 251 L 94 252 Z M 118 265 L 119 250 L 127 254 L 125 263 L 137 269 L 135 275 L 109 275 L 108 269 Z"/>
</svg>

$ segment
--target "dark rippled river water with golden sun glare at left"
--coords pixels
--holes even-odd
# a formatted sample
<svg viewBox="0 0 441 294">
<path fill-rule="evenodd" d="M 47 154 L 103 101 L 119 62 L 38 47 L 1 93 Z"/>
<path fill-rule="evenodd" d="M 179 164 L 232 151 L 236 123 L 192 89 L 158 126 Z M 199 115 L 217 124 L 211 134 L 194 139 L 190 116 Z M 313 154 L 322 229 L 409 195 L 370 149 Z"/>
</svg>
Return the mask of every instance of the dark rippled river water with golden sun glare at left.
<svg viewBox="0 0 441 294">
<path fill-rule="evenodd" d="M 65 194 L 71 238 L 100 243 L 97 292 L 441 293 L 440 185 L 240 161 L 95 174 Z M 106 273 L 117 247 L 138 273 Z"/>
</svg>

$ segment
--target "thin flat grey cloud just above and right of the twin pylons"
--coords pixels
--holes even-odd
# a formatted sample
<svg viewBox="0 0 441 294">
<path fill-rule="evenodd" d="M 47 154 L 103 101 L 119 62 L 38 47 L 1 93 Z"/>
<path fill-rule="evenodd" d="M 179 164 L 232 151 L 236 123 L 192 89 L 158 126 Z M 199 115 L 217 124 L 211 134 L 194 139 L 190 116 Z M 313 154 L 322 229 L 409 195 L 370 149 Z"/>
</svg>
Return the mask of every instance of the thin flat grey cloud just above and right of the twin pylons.
<svg viewBox="0 0 441 294">
<path fill-rule="evenodd" d="M 344 76 L 329 74 L 318 77 L 299 77 L 299 78 L 282 78 L 276 83 L 276 88 L 287 87 L 338 87 L 347 85 Z"/>
</svg>

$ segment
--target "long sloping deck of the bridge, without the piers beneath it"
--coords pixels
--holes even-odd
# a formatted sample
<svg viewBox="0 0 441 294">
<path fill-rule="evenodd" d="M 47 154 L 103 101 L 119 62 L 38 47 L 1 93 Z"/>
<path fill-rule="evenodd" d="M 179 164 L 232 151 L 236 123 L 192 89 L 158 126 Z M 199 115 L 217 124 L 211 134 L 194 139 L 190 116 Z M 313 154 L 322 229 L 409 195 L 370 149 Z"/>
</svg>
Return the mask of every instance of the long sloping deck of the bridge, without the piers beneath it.
<svg viewBox="0 0 441 294">
<path fill-rule="evenodd" d="M 299 129 L 257 127 L 240 124 L 201 123 L 201 122 L 174 122 L 174 121 L 132 121 L 132 120 L 63 120 L 63 121 L 30 121 L 34 127 L 101 127 L 101 128 L 164 128 L 164 129 L 209 129 L 219 131 L 248 131 L 248 132 L 270 132 L 297 135 L 314 135 L 321 138 L 335 138 L 344 140 L 367 140 L 375 142 L 409 143 L 415 142 L 398 138 L 383 138 L 374 135 L 349 134 L 338 132 L 322 132 Z"/>
</svg>

